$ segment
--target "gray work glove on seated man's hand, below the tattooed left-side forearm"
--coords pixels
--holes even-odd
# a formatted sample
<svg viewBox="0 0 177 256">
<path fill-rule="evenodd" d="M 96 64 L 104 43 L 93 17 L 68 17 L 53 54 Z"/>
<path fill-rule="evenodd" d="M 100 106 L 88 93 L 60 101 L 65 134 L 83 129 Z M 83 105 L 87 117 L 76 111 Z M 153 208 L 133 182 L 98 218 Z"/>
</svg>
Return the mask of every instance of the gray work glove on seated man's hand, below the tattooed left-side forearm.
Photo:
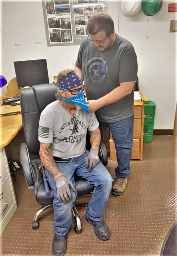
<svg viewBox="0 0 177 256">
<path fill-rule="evenodd" d="M 70 188 L 74 192 L 77 191 L 74 188 L 72 182 L 66 179 L 63 175 L 61 175 L 57 179 L 55 179 L 55 183 L 57 188 L 57 196 L 60 203 L 69 203 L 73 198 L 70 192 Z"/>
</svg>

